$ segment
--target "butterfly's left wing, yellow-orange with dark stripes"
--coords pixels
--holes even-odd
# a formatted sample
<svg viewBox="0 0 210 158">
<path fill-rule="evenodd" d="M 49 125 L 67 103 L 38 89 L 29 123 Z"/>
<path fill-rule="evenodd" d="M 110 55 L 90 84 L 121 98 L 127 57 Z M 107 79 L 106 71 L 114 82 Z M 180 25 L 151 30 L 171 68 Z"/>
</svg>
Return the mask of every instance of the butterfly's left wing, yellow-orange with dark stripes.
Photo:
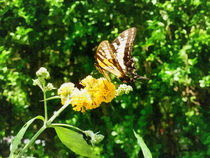
<svg viewBox="0 0 210 158">
<path fill-rule="evenodd" d="M 95 66 L 108 80 L 110 80 L 108 72 L 114 74 L 118 78 L 124 76 L 124 72 L 116 60 L 115 54 L 108 41 L 102 41 L 95 54 Z"/>
</svg>

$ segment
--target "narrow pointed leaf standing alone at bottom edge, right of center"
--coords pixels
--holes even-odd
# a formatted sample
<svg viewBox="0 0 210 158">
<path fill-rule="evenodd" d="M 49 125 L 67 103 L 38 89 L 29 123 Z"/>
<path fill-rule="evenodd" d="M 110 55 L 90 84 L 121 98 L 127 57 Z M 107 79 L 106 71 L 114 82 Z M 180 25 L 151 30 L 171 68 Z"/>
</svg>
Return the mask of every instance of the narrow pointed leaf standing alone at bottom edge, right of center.
<svg viewBox="0 0 210 158">
<path fill-rule="evenodd" d="M 152 158 L 152 154 L 151 154 L 149 148 L 147 147 L 147 145 L 144 143 L 143 138 L 140 135 L 138 135 L 135 131 L 133 131 L 133 132 L 134 132 L 135 137 L 137 138 L 137 142 L 138 142 L 139 146 L 142 149 L 144 157 Z"/>
</svg>

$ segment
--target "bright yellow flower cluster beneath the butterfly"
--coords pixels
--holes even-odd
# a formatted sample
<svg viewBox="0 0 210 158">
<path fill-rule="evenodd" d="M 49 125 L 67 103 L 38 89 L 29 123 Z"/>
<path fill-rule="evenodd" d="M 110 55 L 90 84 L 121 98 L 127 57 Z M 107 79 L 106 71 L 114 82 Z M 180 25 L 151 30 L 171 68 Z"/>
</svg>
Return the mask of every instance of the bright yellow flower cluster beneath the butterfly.
<svg viewBox="0 0 210 158">
<path fill-rule="evenodd" d="M 67 97 L 70 97 L 70 103 L 75 111 L 85 112 L 85 110 L 95 109 L 102 102 L 111 102 L 115 97 L 114 84 L 105 78 L 95 79 L 87 76 L 80 84 L 84 86 L 80 90 L 73 83 L 65 83 L 58 90 L 61 103 L 64 104 Z"/>
</svg>

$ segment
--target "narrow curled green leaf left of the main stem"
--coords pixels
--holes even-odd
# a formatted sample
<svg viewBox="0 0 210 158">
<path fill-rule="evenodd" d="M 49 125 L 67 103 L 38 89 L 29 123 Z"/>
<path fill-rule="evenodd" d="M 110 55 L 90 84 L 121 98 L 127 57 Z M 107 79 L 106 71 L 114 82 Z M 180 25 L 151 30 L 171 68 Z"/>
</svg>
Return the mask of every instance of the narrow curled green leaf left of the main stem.
<svg viewBox="0 0 210 158">
<path fill-rule="evenodd" d="M 23 138 L 23 135 L 25 134 L 26 130 L 28 129 L 28 127 L 34 122 L 34 120 L 36 119 L 40 119 L 44 121 L 43 116 L 36 116 L 34 118 L 32 118 L 31 120 L 29 120 L 22 128 L 21 130 L 18 132 L 18 134 L 15 136 L 15 138 L 13 139 L 11 145 L 10 145 L 10 155 L 9 157 L 13 157 L 14 152 L 16 151 L 18 145 L 20 144 L 21 139 Z"/>
</svg>

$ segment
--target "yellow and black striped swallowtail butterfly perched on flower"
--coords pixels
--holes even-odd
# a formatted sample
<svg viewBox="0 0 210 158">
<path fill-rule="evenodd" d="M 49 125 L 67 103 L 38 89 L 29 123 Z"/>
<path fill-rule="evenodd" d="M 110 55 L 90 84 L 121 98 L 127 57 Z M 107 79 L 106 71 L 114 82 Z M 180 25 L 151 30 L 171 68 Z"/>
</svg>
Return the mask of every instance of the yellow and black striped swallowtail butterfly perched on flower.
<svg viewBox="0 0 210 158">
<path fill-rule="evenodd" d="M 136 64 L 131 56 L 135 36 L 136 28 L 132 27 L 123 31 L 112 43 L 105 40 L 99 44 L 95 54 L 95 66 L 109 81 L 109 73 L 124 83 L 147 79 L 136 73 Z"/>
</svg>

